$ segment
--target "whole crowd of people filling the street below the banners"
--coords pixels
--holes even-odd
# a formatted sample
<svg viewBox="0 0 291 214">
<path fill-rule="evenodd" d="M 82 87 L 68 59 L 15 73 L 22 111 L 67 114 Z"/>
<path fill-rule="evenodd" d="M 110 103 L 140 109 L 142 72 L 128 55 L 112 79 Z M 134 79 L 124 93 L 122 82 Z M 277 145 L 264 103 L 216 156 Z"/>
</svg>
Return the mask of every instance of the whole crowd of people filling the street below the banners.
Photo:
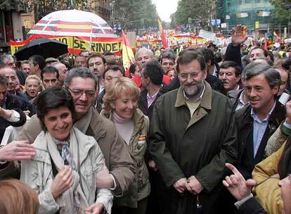
<svg viewBox="0 0 291 214">
<path fill-rule="evenodd" d="M 291 213 L 291 44 L 246 39 L 1 55 L 1 213 Z"/>
</svg>

